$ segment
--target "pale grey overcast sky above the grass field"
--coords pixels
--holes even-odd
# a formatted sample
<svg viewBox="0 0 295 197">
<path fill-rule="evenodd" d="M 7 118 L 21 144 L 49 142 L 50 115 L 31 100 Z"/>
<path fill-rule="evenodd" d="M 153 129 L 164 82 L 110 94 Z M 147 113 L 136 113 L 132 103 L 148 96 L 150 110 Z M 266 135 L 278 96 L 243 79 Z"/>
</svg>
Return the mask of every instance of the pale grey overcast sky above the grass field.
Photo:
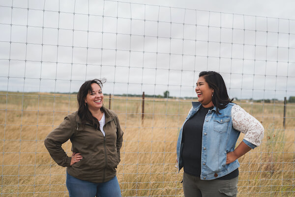
<svg viewBox="0 0 295 197">
<path fill-rule="evenodd" d="M 294 96 L 294 7 L 291 0 L 0 0 L 0 90 L 75 92 L 106 78 L 105 93 L 195 97 L 199 72 L 214 70 L 230 97 Z"/>
</svg>

